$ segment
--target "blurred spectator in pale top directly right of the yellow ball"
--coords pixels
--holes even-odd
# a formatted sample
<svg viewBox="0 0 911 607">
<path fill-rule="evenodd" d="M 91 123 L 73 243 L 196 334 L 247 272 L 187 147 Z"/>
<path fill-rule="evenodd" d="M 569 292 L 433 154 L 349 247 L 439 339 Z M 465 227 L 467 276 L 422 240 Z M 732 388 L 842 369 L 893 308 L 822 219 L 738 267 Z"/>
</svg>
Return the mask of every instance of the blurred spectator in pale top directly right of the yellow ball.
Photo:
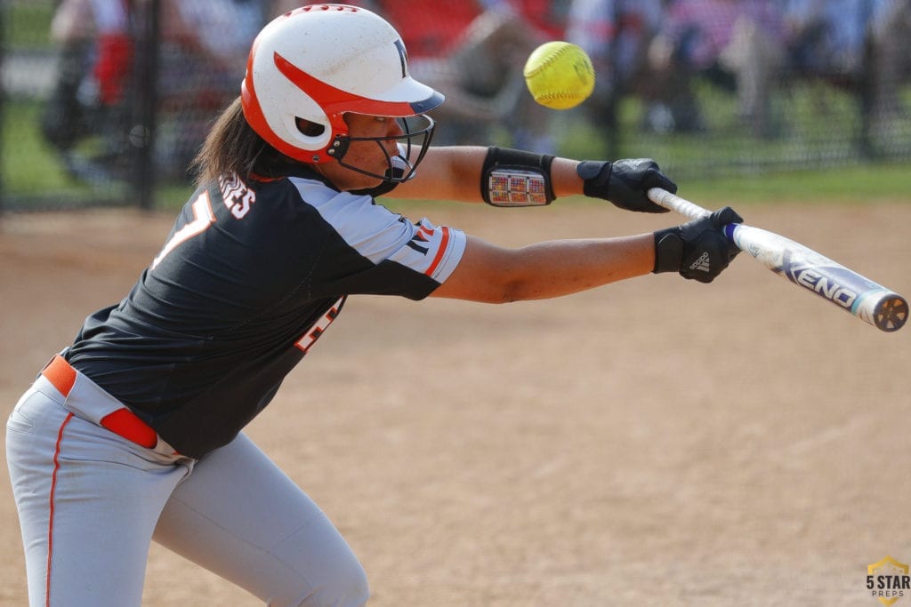
<svg viewBox="0 0 911 607">
<path fill-rule="evenodd" d="M 617 102 L 636 92 L 663 17 L 661 0 L 572 0 L 566 38 L 595 66 L 595 92 L 583 106 L 604 134 L 617 129 Z"/>
</svg>

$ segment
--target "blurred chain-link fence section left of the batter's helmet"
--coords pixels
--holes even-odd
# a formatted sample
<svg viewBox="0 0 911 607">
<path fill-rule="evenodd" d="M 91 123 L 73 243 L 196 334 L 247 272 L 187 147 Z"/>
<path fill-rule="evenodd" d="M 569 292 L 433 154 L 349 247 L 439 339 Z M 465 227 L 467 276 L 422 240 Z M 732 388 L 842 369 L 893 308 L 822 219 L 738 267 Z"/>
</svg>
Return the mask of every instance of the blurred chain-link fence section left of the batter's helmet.
<svg viewBox="0 0 911 607">
<path fill-rule="evenodd" d="M 2 5 L 6 210 L 154 207 L 185 192 L 237 96 L 266 3 L 11 0 Z"/>
</svg>

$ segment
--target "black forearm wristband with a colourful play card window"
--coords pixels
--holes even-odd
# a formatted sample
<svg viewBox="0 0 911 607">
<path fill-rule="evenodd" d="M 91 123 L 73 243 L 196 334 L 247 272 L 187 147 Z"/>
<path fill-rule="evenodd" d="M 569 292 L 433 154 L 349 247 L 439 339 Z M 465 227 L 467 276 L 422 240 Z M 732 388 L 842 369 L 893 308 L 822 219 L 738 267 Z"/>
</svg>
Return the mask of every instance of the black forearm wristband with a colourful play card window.
<svg viewBox="0 0 911 607">
<path fill-rule="evenodd" d="M 481 197 L 493 207 L 541 207 L 554 196 L 554 157 L 508 147 L 489 147 L 481 168 Z"/>
</svg>

